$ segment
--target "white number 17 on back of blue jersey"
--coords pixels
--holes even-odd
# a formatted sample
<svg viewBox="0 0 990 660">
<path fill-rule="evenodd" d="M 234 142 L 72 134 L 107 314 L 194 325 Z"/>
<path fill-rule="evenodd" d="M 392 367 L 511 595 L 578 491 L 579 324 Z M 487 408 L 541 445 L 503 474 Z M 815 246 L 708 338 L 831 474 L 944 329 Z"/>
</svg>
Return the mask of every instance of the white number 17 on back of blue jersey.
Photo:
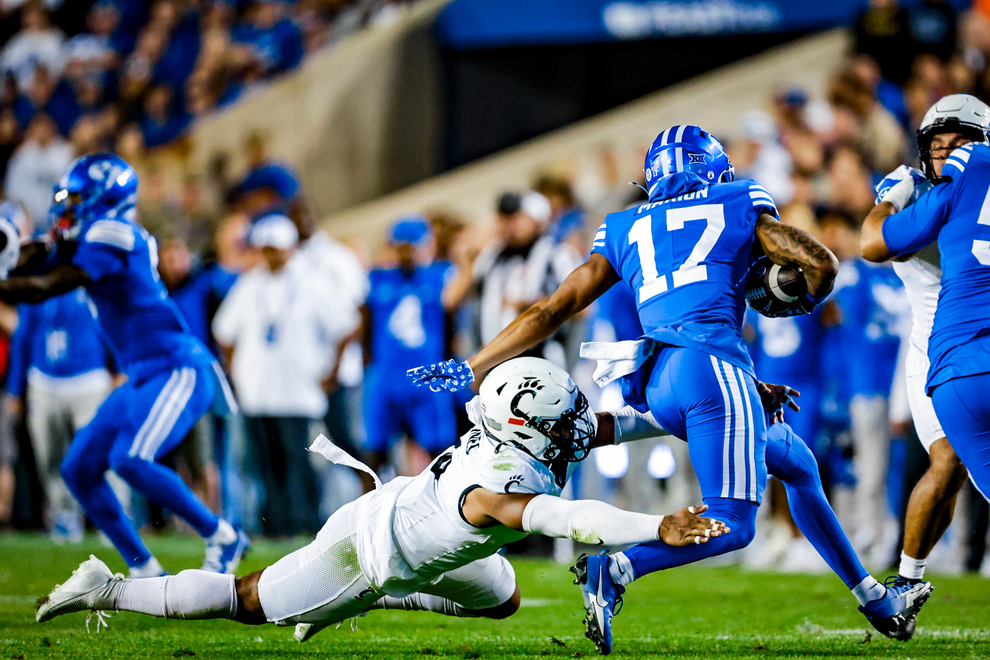
<svg viewBox="0 0 990 660">
<path fill-rule="evenodd" d="M 684 223 L 694 220 L 704 220 L 705 231 L 701 233 L 698 242 L 694 244 L 691 253 L 684 262 L 670 273 L 675 287 L 701 282 L 708 279 L 708 268 L 702 263 L 708 253 L 715 247 L 722 231 L 726 229 L 726 217 L 722 204 L 701 204 L 680 209 L 667 209 L 666 231 L 676 232 L 684 229 Z M 629 231 L 629 244 L 636 244 L 640 257 L 640 267 L 643 270 L 643 285 L 640 287 L 640 304 L 654 296 L 658 296 L 668 288 L 666 273 L 660 274 L 656 263 L 656 249 L 653 247 L 653 217 L 644 216 L 633 223 Z M 674 264 L 669 264 L 674 265 Z"/>
</svg>

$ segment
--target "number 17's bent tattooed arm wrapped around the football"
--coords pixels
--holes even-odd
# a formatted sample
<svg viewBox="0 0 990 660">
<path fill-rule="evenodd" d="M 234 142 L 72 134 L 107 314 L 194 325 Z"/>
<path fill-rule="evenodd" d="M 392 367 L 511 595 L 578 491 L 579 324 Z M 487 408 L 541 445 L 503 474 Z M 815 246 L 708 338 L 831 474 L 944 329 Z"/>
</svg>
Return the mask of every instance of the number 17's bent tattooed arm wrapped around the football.
<svg viewBox="0 0 990 660">
<path fill-rule="evenodd" d="M 811 296 L 821 298 L 832 291 L 839 273 L 839 259 L 814 236 L 764 213 L 756 221 L 756 237 L 770 261 L 780 266 L 798 266 L 804 271 Z"/>
</svg>

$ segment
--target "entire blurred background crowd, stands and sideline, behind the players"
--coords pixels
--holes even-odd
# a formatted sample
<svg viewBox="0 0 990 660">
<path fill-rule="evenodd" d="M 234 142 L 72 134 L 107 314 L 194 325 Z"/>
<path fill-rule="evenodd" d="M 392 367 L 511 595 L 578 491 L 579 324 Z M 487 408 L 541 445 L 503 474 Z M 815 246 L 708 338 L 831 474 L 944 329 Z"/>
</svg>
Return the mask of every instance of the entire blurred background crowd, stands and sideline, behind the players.
<svg viewBox="0 0 990 660">
<path fill-rule="evenodd" d="M 41 231 L 53 177 L 74 153 L 112 146 L 138 166 L 138 220 L 158 240 L 161 279 L 192 330 L 224 358 L 241 405 L 238 415 L 208 416 L 169 460 L 211 506 L 254 533 L 313 532 L 370 487 L 349 468 L 312 459 L 305 446 L 318 431 L 385 479 L 426 467 L 466 429 L 464 398 L 415 390 L 405 370 L 471 355 L 587 258 L 606 214 L 645 197 L 627 182 L 644 182 L 648 143 L 603 145 L 545 163 L 529 190 L 499 194 L 484 218 L 409 209 L 372 256 L 368 244 L 378 236 L 338 240 L 316 228 L 298 177 L 270 157 L 263 136 L 244 145 L 247 175 L 220 201 L 206 199 L 200 179 L 170 179 L 143 159 L 145 149 L 180 135 L 195 115 L 295 66 L 304 51 L 373 17 L 386 20 L 393 5 L 158 0 L 147 16 L 132 16 L 124 4 L 101 0 L 86 14 L 89 32 L 68 40 L 51 27 L 46 6 L 25 5 L 8 19 L 22 26 L 8 28 L 13 37 L 0 54 L 9 73 L 0 99 L 0 143 L 9 145 L 4 153 L 13 151 L 8 199 Z M 761 379 L 801 392 L 802 410 L 788 413 L 788 422 L 818 456 L 856 550 L 885 566 L 897 556 L 898 520 L 927 457 L 897 375 L 911 325 L 908 302 L 889 266 L 859 258 L 859 225 L 874 203 L 873 185 L 902 162 L 917 163 L 914 131 L 932 103 L 957 92 L 990 102 L 990 3 L 956 16 L 940 0 L 910 10 L 872 0 L 854 35 L 824 98 L 781 88 L 765 110 L 743 114 L 738 130 L 722 138 L 737 178 L 756 179 L 783 222 L 818 236 L 841 260 L 827 304 L 797 319 L 749 315 L 745 338 Z M 181 40 L 197 44 L 197 54 L 173 48 Z M 27 49 L 30 57 L 18 55 Z M 15 196 L 31 187 L 12 185 L 16 177 L 44 179 L 37 186 L 45 194 Z M 32 422 L 32 388 L 58 389 L 59 378 L 103 369 L 107 377 L 94 387 L 105 392 L 114 365 L 101 358 L 78 373 L 47 366 L 65 345 L 76 345 L 73 333 L 84 332 L 59 324 L 84 322 L 66 321 L 81 317 L 65 311 L 19 312 L 20 326 L 9 311 L 0 314 L 0 326 L 13 332 L 4 413 L 20 450 L 0 451 L 0 524 L 44 523 L 71 540 L 80 515 L 58 510 L 70 506 L 47 481 L 57 481 L 50 456 L 63 447 L 56 445 L 85 415 L 41 430 L 43 422 Z M 23 321 L 29 318 L 35 321 Z M 592 406 L 608 410 L 622 405 L 621 392 L 593 384 L 593 365 L 577 355 L 580 342 L 641 331 L 632 291 L 620 284 L 531 354 L 570 369 Z M 52 433 L 63 439 L 55 442 Z M 676 440 L 596 449 L 568 488 L 653 513 L 698 498 L 686 447 Z M 760 514 L 765 533 L 742 551 L 743 560 L 828 570 L 789 518 L 782 487 L 769 490 Z M 957 517 L 936 550 L 942 570 L 982 564 L 986 504 L 971 487 L 961 501 L 968 515 Z M 174 524 L 167 512 L 132 502 L 136 518 Z M 557 545 L 567 556 L 570 549 Z"/>
</svg>

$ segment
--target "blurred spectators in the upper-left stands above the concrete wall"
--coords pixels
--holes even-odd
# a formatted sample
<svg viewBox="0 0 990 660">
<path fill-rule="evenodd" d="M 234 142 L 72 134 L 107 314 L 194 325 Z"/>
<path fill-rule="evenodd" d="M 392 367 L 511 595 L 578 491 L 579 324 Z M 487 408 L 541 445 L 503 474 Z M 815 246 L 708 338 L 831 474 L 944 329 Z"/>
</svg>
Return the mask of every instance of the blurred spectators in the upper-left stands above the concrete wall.
<svg viewBox="0 0 990 660">
<path fill-rule="evenodd" d="M 411 0 L 30 0 L 0 4 L 0 178 L 38 233 L 77 154 L 141 165 L 204 114 Z M 141 169 L 141 167 L 139 167 Z M 169 189 L 179 181 L 166 182 Z"/>
</svg>

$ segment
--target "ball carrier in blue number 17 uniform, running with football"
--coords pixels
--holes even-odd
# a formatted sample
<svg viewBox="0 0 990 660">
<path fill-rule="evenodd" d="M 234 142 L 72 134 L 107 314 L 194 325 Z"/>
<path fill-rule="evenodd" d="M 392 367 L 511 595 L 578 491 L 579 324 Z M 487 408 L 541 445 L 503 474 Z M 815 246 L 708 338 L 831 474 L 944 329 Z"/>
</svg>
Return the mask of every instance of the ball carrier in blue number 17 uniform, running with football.
<svg viewBox="0 0 990 660">
<path fill-rule="evenodd" d="M 644 167 L 647 203 L 608 216 L 588 261 L 552 296 L 467 362 L 410 373 L 432 389 L 465 387 L 474 374 L 542 340 L 620 280 L 636 291 L 644 337 L 615 344 L 611 355 L 608 349 L 600 352 L 596 357 L 605 357 L 606 364 L 600 359 L 599 369 L 607 371 L 611 362 L 613 377 L 623 377 L 627 403 L 648 410 L 660 426 L 687 440 L 708 514 L 733 533 L 704 545 L 647 543 L 579 560 L 575 568 L 588 610 L 588 636 L 603 653 L 611 651 L 611 617 L 625 585 L 747 545 L 767 463 L 781 472 L 788 471 L 789 459 L 805 462 L 799 456 L 814 464 L 803 442 L 780 437 L 772 449 L 767 445 L 767 419 L 743 346 L 744 289 L 750 266 L 763 255 L 775 264 L 799 267 L 807 291 L 784 313 L 807 314 L 831 291 L 839 265 L 820 242 L 779 222 L 765 189 L 751 180 L 735 181 L 722 144 L 704 130 L 667 129 L 653 141 Z M 608 380 L 598 378 L 599 384 Z M 809 479 L 786 475 L 796 495 L 807 496 L 810 508 L 795 519 L 852 590 L 860 611 L 894 636 L 924 603 L 931 585 L 885 589 L 869 576 L 841 533 L 815 473 Z"/>
</svg>

